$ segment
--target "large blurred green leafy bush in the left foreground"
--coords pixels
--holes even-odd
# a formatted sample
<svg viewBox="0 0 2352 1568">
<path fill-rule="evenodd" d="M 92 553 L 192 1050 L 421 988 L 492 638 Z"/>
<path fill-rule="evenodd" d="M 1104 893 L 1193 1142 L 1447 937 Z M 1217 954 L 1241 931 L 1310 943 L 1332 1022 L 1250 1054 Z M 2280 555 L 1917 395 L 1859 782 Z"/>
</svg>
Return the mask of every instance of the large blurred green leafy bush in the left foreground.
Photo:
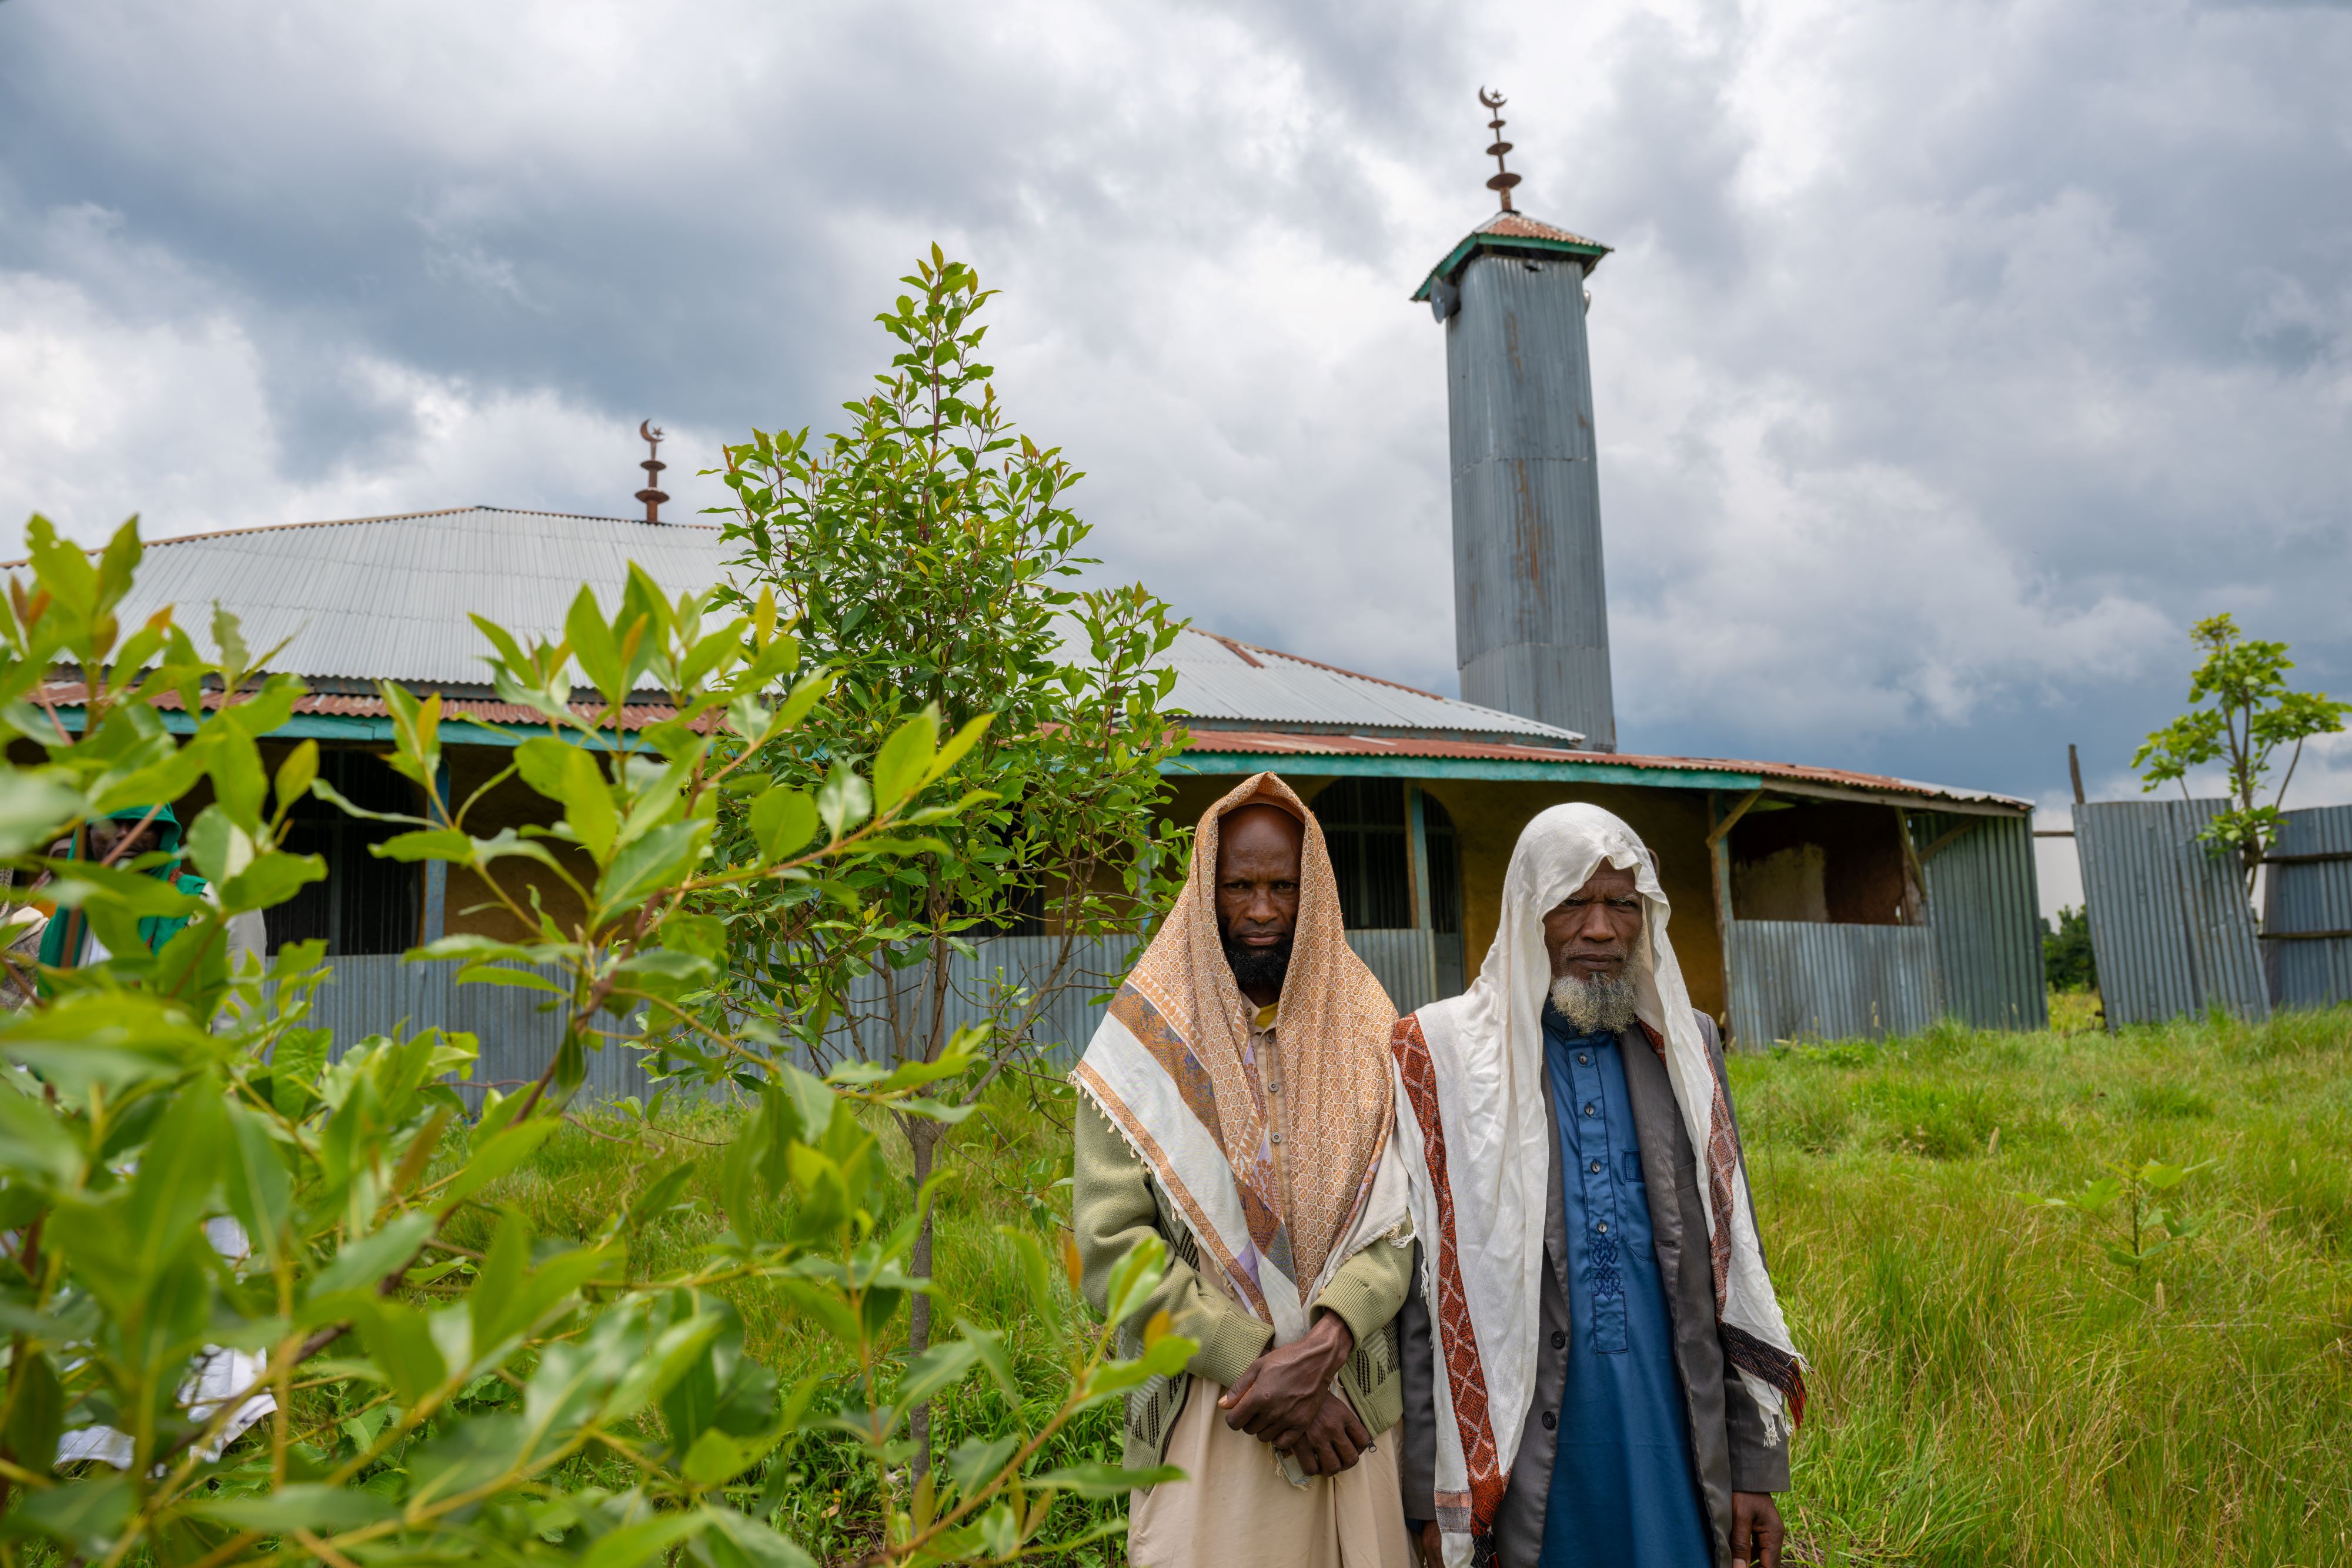
<svg viewBox="0 0 2352 1568">
<path fill-rule="evenodd" d="M 837 1434 L 889 1497 L 868 1561 L 1009 1561 L 1042 1544 L 1058 1495 L 1157 1479 L 1042 1469 L 1077 1410 L 1183 1366 L 1192 1347 L 1155 1331 L 1141 1359 L 1112 1359 L 1110 1326 L 1065 1321 L 1044 1246 L 1021 1234 L 1063 1396 L 1035 1427 L 960 1448 L 943 1479 L 891 1481 L 910 1406 L 976 1371 L 1011 1385 L 988 1331 L 898 1354 L 898 1314 L 927 1288 L 908 1262 L 931 1194 L 894 1227 L 875 1218 L 894 1182 L 873 1121 L 941 1114 L 927 1093 L 974 1070 L 976 1037 L 823 1081 L 774 1060 L 771 1027 L 713 1032 L 689 1001 L 724 947 L 699 898 L 891 865 L 917 853 L 901 835 L 953 816 L 922 804 L 957 764 L 927 712 L 891 733 L 891 783 L 833 771 L 724 851 L 717 792 L 826 698 L 821 675 L 779 698 L 800 654 L 769 602 L 722 618 L 663 602 L 633 574 L 614 611 L 583 595 L 560 644 L 524 649 L 485 625 L 501 691 L 553 729 L 513 766 L 557 820 L 475 837 L 466 804 L 433 799 L 381 853 L 475 870 L 536 860 L 574 884 L 581 914 L 564 926 L 517 905 L 527 943 L 459 938 L 412 954 L 456 959 L 473 983 L 550 990 L 564 1020 L 546 1074 L 513 1095 L 487 1091 L 470 1117 L 449 1079 L 475 1060 L 473 1037 L 372 1037 L 329 1063 L 327 1032 L 306 1023 L 329 978 L 320 943 L 242 973 L 223 961 L 228 919 L 325 875 L 282 842 L 294 802 L 332 792 L 318 785 L 315 743 L 275 776 L 263 766 L 256 741 L 285 724 L 301 684 L 256 679 L 230 618 L 214 623 L 223 654 L 212 661 L 169 611 L 122 635 L 115 611 L 139 552 L 132 527 L 92 559 L 35 517 L 33 578 L 9 581 L 0 614 L 12 731 L 0 865 L 16 896 L 45 877 L 42 893 L 111 954 L 19 973 L 28 1001 L 0 1016 L 0 1559 L 809 1568 L 774 1519 L 793 1446 Z M 602 715 L 572 712 L 572 661 L 607 693 Z M 85 684 L 80 722 L 52 689 L 59 665 Z M 623 738 L 602 719 L 640 679 L 670 691 L 677 719 Z M 167 691 L 195 717 L 186 743 L 155 712 Z M 383 698 L 397 715 L 395 766 L 430 780 L 437 698 L 397 686 Z M 146 856 L 47 853 L 200 780 L 212 804 L 186 851 L 202 889 L 143 875 L 155 870 Z M 880 802 L 858 820 L 840 804 L 851 785 Z M 548 842 L 579 853 L 550 856 Z M 183 924 L 151 950 L 143 919 Z M 628 1041 L 595 1025 L 612 1001 L 637 1006 Z M 586 1241 L 536 1237 L 496 1206 L 499 1180 L 560 1126 L 583 1053 L 652 1048 L 677 1030 L 746 1065 L 739 1133 L 708 1157 L 724 1232 L 682 1265 L 640 1260 L 691 1161 L 654 1173 Z M 1162 1262 L 1138 1248 L 1112 1286 L 1112 1319 L 1134 1316 Z M 814 1366 L 786 1378 L 743 1354 L 724 1300 L 743 1281 L 774 1281 L 816 1331 Z M 273 1408 L 235 1434 L 256 1399 Z M 61 1467 L 99 1427 L 125 1462 Z"/>
</svg>

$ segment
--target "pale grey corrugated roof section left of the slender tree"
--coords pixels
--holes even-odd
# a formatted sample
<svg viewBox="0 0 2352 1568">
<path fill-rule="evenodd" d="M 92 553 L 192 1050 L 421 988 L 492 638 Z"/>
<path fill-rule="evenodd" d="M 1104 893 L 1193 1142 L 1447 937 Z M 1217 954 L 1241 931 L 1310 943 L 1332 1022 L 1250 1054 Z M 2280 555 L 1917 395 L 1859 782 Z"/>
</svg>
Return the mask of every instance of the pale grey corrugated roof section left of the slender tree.
<svg viewBox="0 0 2352 1568">
<path fill-rule="evenodd" d="M 209 644 L 219 602 L 247 646 L 287 639 L 278 670 L 485 684 L 487 644 L 468 611 L 517 637 L 553 639 L 581 583 L 612 604 L 637 562 L 670 592 L 701 592 L 724 555 L 708 524 L 496 505 L 294 522 L 148 541 L 122 623 L 176 604 L 179 623 Z"/>
</svg>

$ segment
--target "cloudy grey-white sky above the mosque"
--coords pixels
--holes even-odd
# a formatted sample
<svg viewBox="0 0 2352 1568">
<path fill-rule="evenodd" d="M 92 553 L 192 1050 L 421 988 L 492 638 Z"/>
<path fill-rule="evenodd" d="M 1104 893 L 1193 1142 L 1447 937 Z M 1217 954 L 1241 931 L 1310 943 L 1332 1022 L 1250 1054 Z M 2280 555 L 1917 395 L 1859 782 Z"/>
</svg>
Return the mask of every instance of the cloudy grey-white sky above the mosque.
<svg viewBox="0 0 2352 1568">
<path fill-rule="evenodd" d="M 701 505 L 938 240 L 1105 574 L 1454 691 L 1406 296 L 1494 85 L 1519 205 L 1616 247 L 1625 750 L 2056 809 L 2197 616 L 2352 693 L 2345 82 L 2324 5 L 0 0 L 0 517 L 628 512 L 644 416 Z"/>
</svg>

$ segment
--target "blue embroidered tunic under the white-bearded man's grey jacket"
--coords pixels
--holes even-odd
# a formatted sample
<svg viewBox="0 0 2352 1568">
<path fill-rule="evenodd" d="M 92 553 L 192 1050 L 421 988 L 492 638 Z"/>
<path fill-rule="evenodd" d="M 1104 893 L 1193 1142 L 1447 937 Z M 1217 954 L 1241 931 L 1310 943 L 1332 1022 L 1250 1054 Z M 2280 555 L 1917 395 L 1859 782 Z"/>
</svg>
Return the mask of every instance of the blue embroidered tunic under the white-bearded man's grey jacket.
<svg viewBox="0 0 2352 1568">
<path fill-rule="evenodd" d="M 1710 1568 L 1616 1034 L 1543 1009 L 1569 1237 L 1569 1380 L 1543 1568 Z"/>
</svg>

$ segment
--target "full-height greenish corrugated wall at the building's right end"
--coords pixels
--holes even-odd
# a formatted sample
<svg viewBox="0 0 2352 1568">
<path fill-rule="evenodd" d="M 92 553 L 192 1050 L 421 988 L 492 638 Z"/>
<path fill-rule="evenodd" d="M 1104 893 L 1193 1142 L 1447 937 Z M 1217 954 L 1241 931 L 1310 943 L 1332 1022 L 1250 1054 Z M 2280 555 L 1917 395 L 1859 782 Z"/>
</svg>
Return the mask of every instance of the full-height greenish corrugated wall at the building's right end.
<svg viewBox="0 0 2352 1568">
<path fill-rule="evenodd" d="M 2032 818 L 1915 811 L 1910 825 L 1922 851 L 1959 830 L 1922 865 L 1943 1013 L 1980 1030 L 2049 1027 Z"/>
</svg>

